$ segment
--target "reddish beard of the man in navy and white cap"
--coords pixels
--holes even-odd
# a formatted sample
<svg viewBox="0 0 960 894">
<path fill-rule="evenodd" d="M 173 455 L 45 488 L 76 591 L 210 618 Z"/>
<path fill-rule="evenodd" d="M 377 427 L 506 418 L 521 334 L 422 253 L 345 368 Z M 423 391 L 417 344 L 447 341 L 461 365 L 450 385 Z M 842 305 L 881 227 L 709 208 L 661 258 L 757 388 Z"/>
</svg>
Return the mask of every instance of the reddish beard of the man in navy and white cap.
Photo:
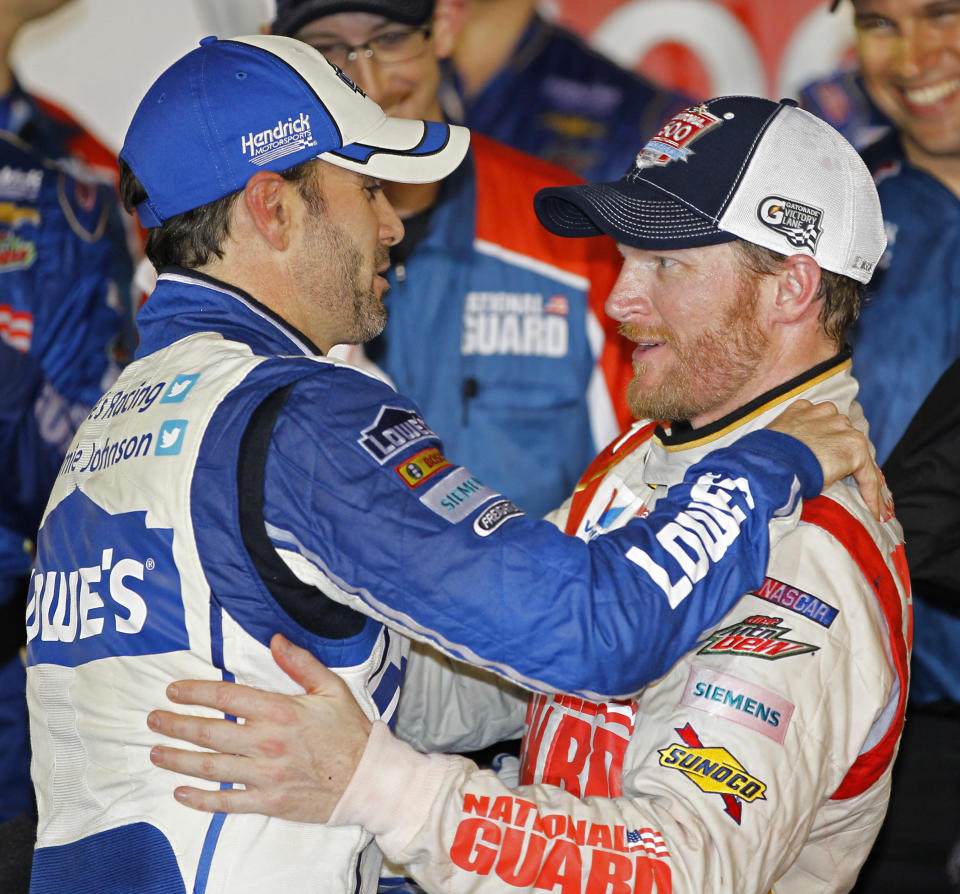
<svg viewBox="0 0 960 894">
<path fill-rule="evenodd" d="M 689 344 L 679 343 L 670 328 L 620 325 L 621 334 L 631 341 L 665 339 L 676 358 L 669 378 L 652 389 L 642 384 L 646 363 L 634 364 L 627 405 L 635 419 L 693 419 L 720 406 L 754 377 L 770 340 L 757 321 L 755 287 L 751 284 L 741 294 L 716 326 Z"/>
</svg>

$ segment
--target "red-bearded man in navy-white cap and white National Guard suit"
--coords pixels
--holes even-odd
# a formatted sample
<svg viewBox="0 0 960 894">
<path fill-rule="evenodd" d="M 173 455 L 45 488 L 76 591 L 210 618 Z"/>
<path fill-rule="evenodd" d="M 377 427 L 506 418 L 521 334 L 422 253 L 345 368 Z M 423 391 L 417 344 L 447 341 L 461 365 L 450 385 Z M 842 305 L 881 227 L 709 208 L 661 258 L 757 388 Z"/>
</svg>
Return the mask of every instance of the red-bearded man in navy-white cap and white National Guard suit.
<svg viewBox="0 0 960 894">
<path fill-rule="evenodd" d="M 567 533 L 596 543 L 655 513 L 692 464 L 794 397 L 857 414 L 843 333 L 885 239 L 870 175 L 828 125 L 789 101 L 709 100 L 620 181 L 545 190 L 536 209 L 561 235 L 616 240 L 607 310 L 637 345 L 640 421 L 552 516 Z M 535 694 L 518 787 L 395 739 L 279 639 L 308 695 L 180 681 L 174 700 L 246 724 L 155 712 L 158 731 L 226 753 L 161 746 L 153 760 L 246 785 L 177 789 L 190 806 L 362 825 L 430 892 L 846 891 L 886 808 L 909 643 L 900 527 L 840 482 L 639 696 Z M 428 730 L 483 704 L 469 679 L 442 691 Z M 435 692 L 405 690 L 403 710 L 415 694 Z"/>
</svg>

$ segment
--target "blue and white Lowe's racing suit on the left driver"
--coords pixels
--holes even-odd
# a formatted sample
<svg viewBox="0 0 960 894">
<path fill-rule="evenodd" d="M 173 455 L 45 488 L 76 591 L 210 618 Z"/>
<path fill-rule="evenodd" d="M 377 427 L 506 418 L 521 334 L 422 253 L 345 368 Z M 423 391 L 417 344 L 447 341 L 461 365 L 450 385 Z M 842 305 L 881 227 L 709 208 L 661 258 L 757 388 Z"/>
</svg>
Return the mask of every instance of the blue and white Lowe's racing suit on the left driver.
<svg viewBox="0 0 960 894">
<path fill-rule="evenodd" d="M 634 692 L 760 585 L 770 519 L 791 529 L 822 483 L 803 445 L 758 432 L 584 543 L 235 288 L 166 270 L 138 322 L 139 359 L 77 433 L 38 538 L 35 892 L 375 890 L 358 827 L 178 804 L 148 756 L 167 683 L 290 691 L 280 631 L 387 722 L 406 637 L 543 691 Z"/>
</svg>

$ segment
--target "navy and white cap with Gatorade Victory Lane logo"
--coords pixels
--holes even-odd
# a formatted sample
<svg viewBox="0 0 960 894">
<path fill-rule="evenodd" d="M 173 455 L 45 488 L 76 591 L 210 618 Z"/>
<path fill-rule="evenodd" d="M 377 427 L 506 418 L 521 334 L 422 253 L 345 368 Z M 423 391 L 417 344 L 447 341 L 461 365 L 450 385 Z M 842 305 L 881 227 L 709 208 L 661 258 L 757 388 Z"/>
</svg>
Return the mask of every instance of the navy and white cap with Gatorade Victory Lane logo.
<svg viewBox="0 0 960 894">
<path fill-rule="evenodd" d="M 887 239 L 863 160 L 796 107 L 721 96 L 674 115 L 613 183 L 542 189 L 540 222 L 560 236 L 605 233 L 635 248 L 744 239 L 869 282 Z"/>
</svg>

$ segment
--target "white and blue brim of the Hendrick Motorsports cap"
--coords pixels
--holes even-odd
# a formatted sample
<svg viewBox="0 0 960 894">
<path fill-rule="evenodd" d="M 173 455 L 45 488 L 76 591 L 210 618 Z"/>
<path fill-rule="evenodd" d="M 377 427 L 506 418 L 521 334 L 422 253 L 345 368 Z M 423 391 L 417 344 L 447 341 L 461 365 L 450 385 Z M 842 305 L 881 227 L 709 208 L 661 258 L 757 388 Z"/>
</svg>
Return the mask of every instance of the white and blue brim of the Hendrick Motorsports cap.
<svg viewBox="0 0 960 894">
<path fill-rule="evenodd" d="M 384 118 L 357 141 L 318 156 L 330 164 L 396 183 L 433 183 L 463 161 L 470 131 L 456 124 Z"/>
</svg>

